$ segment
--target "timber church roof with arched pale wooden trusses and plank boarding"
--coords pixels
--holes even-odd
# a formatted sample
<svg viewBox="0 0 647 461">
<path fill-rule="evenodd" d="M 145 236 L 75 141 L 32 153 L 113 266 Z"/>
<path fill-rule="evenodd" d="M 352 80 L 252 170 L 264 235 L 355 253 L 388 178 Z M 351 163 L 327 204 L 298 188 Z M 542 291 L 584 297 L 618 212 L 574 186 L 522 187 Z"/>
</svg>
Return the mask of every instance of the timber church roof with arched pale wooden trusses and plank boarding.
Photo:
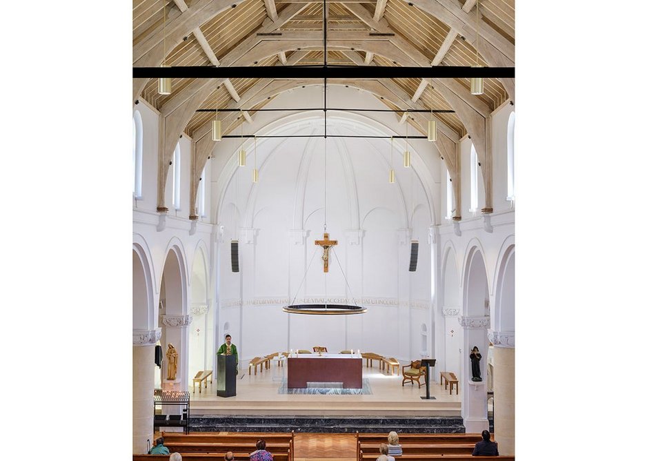
<svg viewBox="0 0 647 461">
<path fill-rule="evenodd" d="M 133 66 L 295 66 L 324 63 L 323 1 L 280 0 L 134 0 Z M 515 65 L 514 0 L 346 0 L 326 1 L 326 62 L 348 66 Z M 166 16 L 166 21 L 165 21 Z M 166 26 L 165 26 L 166 23 Z M 280 33 L 280 35 L 276 35 Z M 259 35 L 260 34 L 260 35 Z M 263 35 L 265 34 L 265 35 Z M 275 34 L 275 35 L 267 35 Z M 161 123 L 158 209 L 177 139 L 195 143 L 192 209 L 197 179 L 215 148 L 211 112 L 199 109 L 247 109 L 223 112 L 223 135 L 251 124 L 258 109 L 277 95 L 319 81 L 296 79 L 172 79 L 172 93 L 159 95 L 157 79 L 134 79 L 133 100 L 157 109 Z M 470 135 L 479 154 L 486 203 L 491 211 L 490 114 L 514 99 L 514 79 L 485 79 L 484 94 L 470 94 L 469 79 L 329 80 L 372 93 L 384 108 L 452 110 L 434 115 L 435 142 L 452 178 L 459 176 L 457 141 Z M 242 116 L 241 116 L 242 115 Z M 413 112 L 411 134 L 426 134 L 428 112 Z M 236 133 L 238 130 L 236 130 Z M 458 183 L 458 182 L 457 182 Z M 458 184 L 453 184 L 455 188 Z M 460 219 L 456 216 L 455 219 Z"/>
</svg>

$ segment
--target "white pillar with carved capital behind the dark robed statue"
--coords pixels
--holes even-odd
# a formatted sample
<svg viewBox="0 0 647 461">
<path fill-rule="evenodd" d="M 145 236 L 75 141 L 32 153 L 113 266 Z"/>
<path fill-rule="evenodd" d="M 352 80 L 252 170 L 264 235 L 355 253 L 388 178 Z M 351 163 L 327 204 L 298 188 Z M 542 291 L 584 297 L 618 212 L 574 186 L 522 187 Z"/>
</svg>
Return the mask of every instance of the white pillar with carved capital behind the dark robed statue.
<svg viewBox="0 0 647 461">
<path fill-rule="evenodd" d="M 461 415 L 466 433 L 481 433 L 488 429 L 488 338 L 490 317 L 460 317 L 463 327 L 463 402 Z M 483 381 L 472 381 L 470 351 L 473 346 L 481 353 L 481 377 Z M 496 374 L 496 373 L 495 373 Z M 500 451 L 499 451 L 500 453 Z"/>
</svg>

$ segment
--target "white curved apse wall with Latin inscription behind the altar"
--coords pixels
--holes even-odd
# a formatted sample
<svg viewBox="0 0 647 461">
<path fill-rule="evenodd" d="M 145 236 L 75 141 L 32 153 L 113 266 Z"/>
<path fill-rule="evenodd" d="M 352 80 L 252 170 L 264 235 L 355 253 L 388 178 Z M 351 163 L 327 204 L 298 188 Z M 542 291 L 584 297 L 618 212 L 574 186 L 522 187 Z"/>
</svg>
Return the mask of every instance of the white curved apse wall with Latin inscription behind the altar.
<svg viewBox="0 0 647 461">
<path fill-rule="evenodd" d="M 321 89 L 306 88 L 295 96 L 286 95 L 288 101 L 275 105 L 316 106 Z M 341 106 L 355 103 L 357 107 L 384 108 L 377 99 L 357 90 L 342 88 L 334 97 L 340 99 L 336 102 Z M 258 115 L 262 117 L 261 112 Z M 395 117 L 388 116 L 388 124 L 396 125 Z M 391 134 L 379 117 L 376 121 L 329 113 L 327 132 Z M 257 122 L 261 125 L 255 119 Z M 268 119 L 262 122 L 268 123 Z M 264 134 L 324 132 L 320 112 L 275 120 L 273 125 L 269 122 Z M 430 190 L 439 189 L 441 170 L 432 144 L 412 143 L 415 147 L 411 150 L 416 149 L 414 168 L 404 168 L 404 141 L 395 142 L 396 184 L 388 183 L 388 139 L 328 137 L 326 143 L 312 137 L 258 139 L 257 184 L 251 182 L 253 142 L 245 144 L 246 167 L 237 166 L 238 146 L 232 144 L 227 146 L 228 159 L 223 159 L 225 144 L 218 146 L 215 154 L 223 170 L 216 210 L 222 229 L 217 243 L 219 339 L 227 323 L 241 360 L 275 351 L 311 350 L 315 345 L 329 351 L 359 348 L 401 360 L 428 351 L 427 343 L 432 339 L 430 226 L 432 210 L 439 208 L 439 200 Z M 419 175 L 426 175 L 424 182 Z M 339 242 L 330 253 L 327 275 L 321 249 L 314 244 L 323 237 L 324 220 L 330 239 Z M 419 241 L 415 273 L 408 271 L 412 238 Z M 240 273 L 231 271 L 231 239 L 239 240 Z M 355 299 L 368 307 L 368 313 L 324 317 L 281 310 L 292 302 L 322 302 L 324 298 L 348 304 L 355 304 Z M 426 336 L 421 335 L 423 328 L 428 331 Z"/>
</svg>

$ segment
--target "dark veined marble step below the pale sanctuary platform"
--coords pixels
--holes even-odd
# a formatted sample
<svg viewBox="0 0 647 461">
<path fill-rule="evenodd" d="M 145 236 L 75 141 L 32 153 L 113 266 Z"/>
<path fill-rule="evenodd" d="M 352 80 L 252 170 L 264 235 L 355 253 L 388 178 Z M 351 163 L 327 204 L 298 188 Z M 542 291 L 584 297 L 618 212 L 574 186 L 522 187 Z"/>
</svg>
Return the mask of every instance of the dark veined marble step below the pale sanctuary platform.
<svg viewBox="0 0 647 461">
<path fill-rule="evenodd" d="M 192 416 L 192 432 L 464 433 L 460 416 L 389 417 L 210 415 Z"/>
</svg>

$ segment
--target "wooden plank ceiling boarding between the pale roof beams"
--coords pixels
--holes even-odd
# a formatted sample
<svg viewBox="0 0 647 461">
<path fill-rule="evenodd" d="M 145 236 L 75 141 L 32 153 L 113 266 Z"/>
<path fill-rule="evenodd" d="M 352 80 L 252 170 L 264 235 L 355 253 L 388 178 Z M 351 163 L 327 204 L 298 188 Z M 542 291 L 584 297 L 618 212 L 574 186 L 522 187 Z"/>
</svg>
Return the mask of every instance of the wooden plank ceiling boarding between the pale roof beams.
<svg viewBox="0 0 647 461">
<path fill-rule="evenodd" d="M 172 1 L 172 0 L 133 0 L 132 6 L 132 35 L 133 46 L 140 43 L 144 37 L 150 37 L 152 33 L 159 28 L 163 27 L 163 15 L 166 9 L 166 22 L 172 21 L 181 15 L 181 9 L 186 10 L 190 8 L 192 1 Z M 301 3 L 305 8 L 298 14 L 292 16 L 289 21 L 284 23 L 279 31 L 290 31 L 292 33 L 308 32 L 323 30 L 323 2 L 308 3 L 306 0 L 283 1 L 283 0 L 241 0 L 237 4 L 237 8 L 226 8 L 215 17 L 207 18 L 204 23 L 199 26 L 199 32 L 203 35 L 206 43 L 211 48 L 213 54 L 217 59 L 222 59 L 228 52 L 234 50 L 241 42 L 248 37 L 255 35 L 263 25 L 268 24 L 271 20 L 268 18 L 268 7 L 266 1 L 274 1 L 277 14 L 287 8 L 290 3 Z M 461 6 L 468 3 L 471 6 L 470 13 L 475 14 L 476 6 L 472 0 L 457 0 Z M 370 13 L 372 19 L 381 19 L 381 23 L 386 21 L 388 27 L 395 32 L 397 37 L 404 39 L 404 46 L 410 46 L 412 52 L 424 56 L 428 62 L 421 63 L 421 65 L 428 66 L 434 59 L 437 58 L 439 52 L 442 59 L 435 65 L 439 66 L 473 66 L 476 62 L 476 50 L 468 43 L 468 41 L 457 34 L 448 24 L 444 23 L 437 17 L 428 14 L 415 6 L 412 6 L 408 1 L 404 0 L 388 0 L 386 1 L 386 8 L 384 8 L 384 1 L 360 1 L 360 0 L 346 0 L 328 1 L 328 30 L 339 31 L 339 33 L 351 32 L 362 33 L 361 31 L 368 32 L 371 30 L 367 24 L 366 19 L 363 21 L 353 14 L 344 3 L 352 3 L 352 6 L 357 8 L 361 6 L 366 8 Z M 380 18 L 375 17 L 375 10 L 378 5 L 384 9 Z M 468 7 L 465 7 L 468 8 Z M 510 43 L 515 43 L 515 0 L 480 0 L 479 12 L 484 24 L 490 26 L 496 32 L 507 39 Z M 353 32 L 355 31 L 355 32 Z M 194 32 L 196 32 L 194 30 Z M 201 38 L 201 37 L 200 37 Z M 447 41 L 447 43 L 444 43 Z M 309 48 L 308 51 L 302 51 L 297 62 L 298 65 L 317 65 L 324 62 L 323 43 L 320 48 Z M 281 65 L 281 61 L 290 59 L 296 51 L 286 51 L 284 55 L 273 55 L 266 59 L 261 59 L 256 64 L 257 66 L 277 66 Z M 443 56 L 443 53 L 444 56 Z M 421 59 L 421 58 L 420 58 Z M 379 55 L 370 55 L 363 51 L 355 50 L 328 50 L 328 63 L 330 64 L 343 64 L 343 65 L 366 65 L 367 63 L 372 66 L 394 66 L 395 64 L 385 57 Z M 483 59 L 480 59 L 483 63 Z M 166 56 L 166 63 L 170 66 L 210 66 L 212 60 L 206 53 L 205 48 L 199 43 L 194 33 L 191 33 L 183 39 L 183 41 L 174 49 L 169 50 Z M 165 104 L 172 101 L 174 97 L 181 94 L 181 90 L 186 88 L 192 83 L 194 79 L 173 79 L 172 87 L 173 92 L 171 95 L 158 95 L 157 94 L 157 80 L 150 79 L 146 87 L 141 93 L 141 97 L 146 99 L 153 107 L 162 110 Z M 243 97 L 245 92 L 254 86 L 259 79 L 231 79 L 230 83 L 235 92 L 240 97 Z M 469 89 L 469 79 L 456 79 L 461 86 Z M 422 104 L 424 108 L 429 109 L 442 109 L 450 110 L 451 107 L 448 102 L 441 97 L 437 90 L 434 90 L 431 85 L 427 85 L 422 90 L 421 79 L 406 78 L 406 79 L 392 79 L 392 81 L 406 92 L 410 99 L 417 100 L 418 104 Z M 484 81 L 485 92 L 483 95 L 478 96 L 479 100 L 484 102 L 490 110 L 494 110 L 508 99 L 508 95 L 504 86 L 497 79 L 485 79 Z M 420 92 L 421 91 L 421 92 Z M 417 94 L 418 93 L 418 94 Z M 417 97 L 415 97 L 417 95 Z M 255 109 L 261 108 L 274 97 L 271 95 L 270 99 L 257 104 Z M 221 84 L 215 88 L 208 98 L 203 102 L 202 108 L 225 108 L 232 103 L 232 92 Z M 392 101 L 385 102 L 387 106 L 393 110 L 404 109 L 403 106 L 396 106 Z M 408 101 L 411 103 L 412 101 Z M 246 107 L 249 108 L 249 107 Z M 252 115 L 252 111 L 249 112 Z M 401 115 L 401 112 L 397 112 Z M 192 136 L 199 128 L 208 124 L 213 118 L 210 112 L 196 112 L 190 119 L 186 126 L 186 133 Z M 457 115 L 453 113 L 437 114 L 437 118 L 444 122 L 448 127 L 455 130 L 459 137 L 466 135 L 467 130 L 461 124 Z M 224 133 L 230 133 L 241 124 L 243 117 L 239 116 L 230 117 L 230 122 L 227 126 L 223 126 Z M 424 130 L 424 124 L 418 123 L 415 117 L 410 120 L 412 126 L 418 130 Z"/>
</svg>

